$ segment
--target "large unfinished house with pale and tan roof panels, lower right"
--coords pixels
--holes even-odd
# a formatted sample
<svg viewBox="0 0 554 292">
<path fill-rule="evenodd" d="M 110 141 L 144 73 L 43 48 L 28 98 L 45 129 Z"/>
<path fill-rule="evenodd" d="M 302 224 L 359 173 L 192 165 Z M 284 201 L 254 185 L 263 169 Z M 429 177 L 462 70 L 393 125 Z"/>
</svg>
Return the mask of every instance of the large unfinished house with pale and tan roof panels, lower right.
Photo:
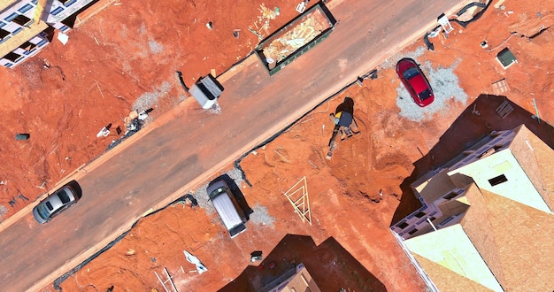
<svg viewBox="0 0 554 292">
<path fill-rule="evenodd" d="M 423 207 L 391 229 L 431 290 L 551 290 L 553 156 L 522 125 L 412 184 Z"/>
</svg>

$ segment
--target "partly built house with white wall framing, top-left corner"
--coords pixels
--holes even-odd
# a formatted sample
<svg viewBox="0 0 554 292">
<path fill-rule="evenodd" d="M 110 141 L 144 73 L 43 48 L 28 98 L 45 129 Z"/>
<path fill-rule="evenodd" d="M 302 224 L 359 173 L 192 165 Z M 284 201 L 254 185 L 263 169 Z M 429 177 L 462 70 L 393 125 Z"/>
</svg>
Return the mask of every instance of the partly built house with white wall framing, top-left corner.
<svg viewBox="0 0 554 292">
<path fill-rule="evenodd" d="M 41 9 L 38 0 L 16 0 L 0 7 L 0 29 L 4 30 L 0 30 L 0 33 L 5 35 L 0 39 L 0 65 L 12 68 L 35 56 L 50 43 L 45 29 L 53 27 L 67 32 L 71 28 L 65 26 L 62 21 L 93 1 L 47 0 L 42 19 L 39 21 L 44 22 L 40 24 L 35 22 L 35 13 Z M 30 20 L 27 23 L 18 23 L 17 18 L 20 15 Z M 37 31 L 37 28 L 40 29 Z"/>
</svg>

